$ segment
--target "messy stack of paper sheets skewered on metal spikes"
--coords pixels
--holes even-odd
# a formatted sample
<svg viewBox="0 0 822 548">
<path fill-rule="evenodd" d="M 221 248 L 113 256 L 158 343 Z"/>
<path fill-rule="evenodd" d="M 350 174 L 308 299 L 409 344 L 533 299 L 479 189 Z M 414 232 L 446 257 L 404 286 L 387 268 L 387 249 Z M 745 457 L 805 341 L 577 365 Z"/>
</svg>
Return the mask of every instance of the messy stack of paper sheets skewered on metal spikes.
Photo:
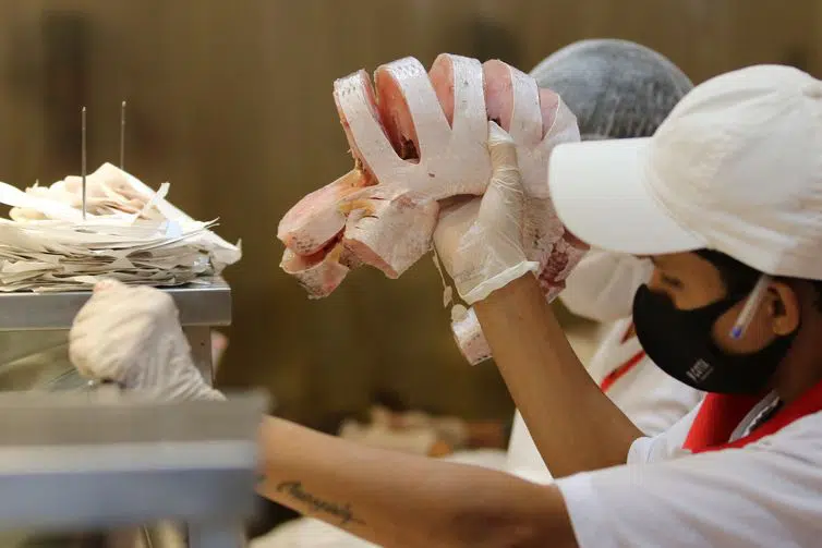
<svg viewBox="0 0 822 548">
<path fill-rule="evenodd" d="M 106 163 L 82 180 L 22 192 L 0 183 L 0 292 L 84 290 L 104 278 L 129 284 L 179 285 L 219 275 L 240 260 L 231 245 L 154 192 Z"/>
</svg>

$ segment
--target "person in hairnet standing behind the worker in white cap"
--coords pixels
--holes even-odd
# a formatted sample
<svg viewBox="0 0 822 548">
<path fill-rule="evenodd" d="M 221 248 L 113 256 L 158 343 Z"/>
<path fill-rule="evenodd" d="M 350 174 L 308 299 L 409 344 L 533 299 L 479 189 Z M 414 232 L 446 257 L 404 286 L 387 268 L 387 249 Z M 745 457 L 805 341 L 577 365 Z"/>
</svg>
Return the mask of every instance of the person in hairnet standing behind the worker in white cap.
<svg viewBox="0 0 822 548">
<path fill-rule="evenodd" d="M 576 114 L 582 141 L 650 137 L 693 87 L 664 56 L 616 39 L 566 46 L 545 58 L 531 75 L 540 87 L 559 94 Z M 651 270 L 648 259 L 591 249 L 559 294 L 571 313 L 606 325 L 588 370 L 648 436 L 672 426 L 702 399 L 701 391 L 660 369 L 633 332 L 631 303 Z M 533 482 L 551 482 L 519 412 L 513 417 L 506 470 Z"/>
</svg>

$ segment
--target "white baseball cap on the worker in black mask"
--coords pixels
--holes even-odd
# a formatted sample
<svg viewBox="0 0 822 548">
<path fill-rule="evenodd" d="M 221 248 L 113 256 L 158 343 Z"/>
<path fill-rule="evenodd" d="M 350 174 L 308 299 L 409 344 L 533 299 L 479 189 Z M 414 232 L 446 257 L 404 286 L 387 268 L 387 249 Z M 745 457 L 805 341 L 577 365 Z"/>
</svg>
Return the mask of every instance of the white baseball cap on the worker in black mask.
<svg viewBox="0 0 822 548">
<path fill-rule="evenodd" d="M 559 219 L 592 246 L 710 248 L 822 280 L 822 82 L 781 65 L 716 76 L 652 137 L 557 146 L 548 183 Z"/>
</svg>

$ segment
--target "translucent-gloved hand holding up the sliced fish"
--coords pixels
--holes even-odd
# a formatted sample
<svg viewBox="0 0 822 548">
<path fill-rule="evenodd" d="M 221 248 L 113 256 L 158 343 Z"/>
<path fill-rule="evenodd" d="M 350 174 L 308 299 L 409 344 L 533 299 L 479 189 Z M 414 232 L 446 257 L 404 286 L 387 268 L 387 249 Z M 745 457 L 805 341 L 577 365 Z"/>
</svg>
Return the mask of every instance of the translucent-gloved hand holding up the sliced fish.
<svg viewBox="0 0 822 548">
<path fill-rule="evenodd" d="M 488 123 L 493 173 L 483 197 L 442 209 L 434 231 L 439 260 L 468 304 L 487 297 L 540 265 L 525 258 L 525 195 L 513 139 Z"/>
</svg>

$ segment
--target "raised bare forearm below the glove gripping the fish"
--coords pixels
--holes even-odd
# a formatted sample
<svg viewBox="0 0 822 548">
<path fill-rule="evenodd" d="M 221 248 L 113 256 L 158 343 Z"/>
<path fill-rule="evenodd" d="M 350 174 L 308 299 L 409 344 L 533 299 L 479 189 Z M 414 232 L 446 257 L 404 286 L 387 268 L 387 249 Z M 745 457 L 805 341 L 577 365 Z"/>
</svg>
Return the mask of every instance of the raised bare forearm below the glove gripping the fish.
<svg viewBox="0 0 822 548">
<path fill-rule="evenodd" d="M 624 464 L 642 434 L 591 379 L 536 279 L 523 276 L 475 307 L 497 367 L 552 474 Z"/>
</svg>

